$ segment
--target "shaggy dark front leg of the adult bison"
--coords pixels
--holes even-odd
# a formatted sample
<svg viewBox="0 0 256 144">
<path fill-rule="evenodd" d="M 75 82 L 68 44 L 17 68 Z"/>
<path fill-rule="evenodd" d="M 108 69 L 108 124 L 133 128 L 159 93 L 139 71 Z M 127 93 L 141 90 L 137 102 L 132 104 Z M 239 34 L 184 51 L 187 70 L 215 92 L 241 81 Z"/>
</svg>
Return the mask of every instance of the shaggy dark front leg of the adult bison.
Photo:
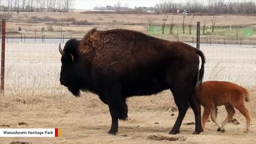
<svg viewBox="0 0 256 144">
<path fill-rule="evenodd" d="M 112 86 L 110 93 L 105 93 L 105 100 L 109 106 L 112 123 L 108 131 L 109 134 L 118 132 L 118 119 L 127 120 L 128 107 L 125 98 L 121 94 L 121 89 L 117 86 Z"/>
</svg>

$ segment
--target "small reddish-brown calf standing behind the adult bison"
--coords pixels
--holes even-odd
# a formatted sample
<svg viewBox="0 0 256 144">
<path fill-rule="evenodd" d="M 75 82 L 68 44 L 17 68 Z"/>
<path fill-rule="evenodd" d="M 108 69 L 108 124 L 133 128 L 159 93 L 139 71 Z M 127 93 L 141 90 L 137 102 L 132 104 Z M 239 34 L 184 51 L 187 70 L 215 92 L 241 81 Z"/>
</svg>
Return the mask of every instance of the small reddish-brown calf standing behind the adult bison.
<svg viewBox="0 0 256 144">
<path fill-rule="evenodd" d="M 244 115 L 247 122 L 247 133 L 250 130 L 250 114 L 244 106 L 244 100 L 248 102 L 250 100 L 249 91 L 232 82 L 225 81 L 206 81 L 202 83 L 202 91 L 200 91 L 198 85 L 196 85 L 196 97 L 200 100 L 200 104 L 203 106 L 202 127 L 205 131 L 205 123 L 210 118 L 218 126 L 217 131 L 225 132 L 225 124 L 234 116 L 235 109 L 239 110 Z M 217 110 L 218 106 L 224 105 L 228 116 L 220 124 L 217 122 Z"/>
</svg>

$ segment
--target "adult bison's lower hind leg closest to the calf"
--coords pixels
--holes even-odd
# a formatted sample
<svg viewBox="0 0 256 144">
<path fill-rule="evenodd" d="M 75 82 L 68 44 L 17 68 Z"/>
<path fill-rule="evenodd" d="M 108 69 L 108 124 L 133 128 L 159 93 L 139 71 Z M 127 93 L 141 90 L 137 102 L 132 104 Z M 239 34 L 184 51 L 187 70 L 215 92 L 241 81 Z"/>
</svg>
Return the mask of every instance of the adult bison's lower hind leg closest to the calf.
<svg viewBox="0 0 256 144">
<path fill-rule="evenodd" d="M 201 105 L 197 101 L 194 94 L 191 94 L 189 97 L 190 107 L 192 108 L 195 115 L 196 128 L 193 134 L 200 134 L 203 131 L 202 128 L 202 118 L 201 118 Z"/>
</svg>

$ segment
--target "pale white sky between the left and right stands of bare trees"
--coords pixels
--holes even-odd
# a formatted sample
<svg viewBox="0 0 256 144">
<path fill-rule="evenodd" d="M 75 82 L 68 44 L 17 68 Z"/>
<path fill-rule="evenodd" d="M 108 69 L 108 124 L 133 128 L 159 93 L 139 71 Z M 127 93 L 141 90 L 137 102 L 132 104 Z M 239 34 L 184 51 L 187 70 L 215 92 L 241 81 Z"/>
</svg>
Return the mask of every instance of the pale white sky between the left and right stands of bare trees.
<svg viewBox="0 0 256 144">
<path fill-rule="evenodd" d="M 124 3 L 128 3 L 130 8 L 134 8 L 135 6 L 146 6 L 151 7 L 155 6 L 156 3 L 160 3 L 163 0 L 119 0 L 121 2 L 121 6 L 124 6 Z M 114 6 L 118 0 L 75 0 L 75 9 L 93 9 L 94 6 L 104 6 L 107 5 Z"/>
</svg>

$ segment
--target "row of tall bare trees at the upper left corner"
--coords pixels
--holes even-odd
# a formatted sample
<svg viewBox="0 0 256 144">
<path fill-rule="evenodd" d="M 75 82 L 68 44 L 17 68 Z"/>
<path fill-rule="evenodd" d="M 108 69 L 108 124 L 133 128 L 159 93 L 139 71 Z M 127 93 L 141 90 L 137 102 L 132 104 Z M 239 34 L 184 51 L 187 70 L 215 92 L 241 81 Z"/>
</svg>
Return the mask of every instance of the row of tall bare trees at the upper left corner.
<svg viewBox="0 0 256 144">
<path fill-rule="evenodd" d="M 1 12 L 69 12 L 74 0 L 0 0 Z"/>
</svg>

